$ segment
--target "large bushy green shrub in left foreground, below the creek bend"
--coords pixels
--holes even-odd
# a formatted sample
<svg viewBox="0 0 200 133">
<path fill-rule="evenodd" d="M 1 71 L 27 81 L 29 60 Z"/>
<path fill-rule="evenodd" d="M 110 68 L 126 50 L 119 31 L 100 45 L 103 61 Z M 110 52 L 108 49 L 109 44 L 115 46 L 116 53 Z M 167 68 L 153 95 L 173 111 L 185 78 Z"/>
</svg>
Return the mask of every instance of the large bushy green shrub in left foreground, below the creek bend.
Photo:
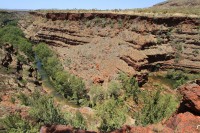
<svg viewBox="0 0 200 133">
<path fill-rule="evenodd" d="M 34 92 L 30 97 L 30 116 L 43 124 L 67 124 L 64 115 L 54 105 L 53 99 Z"/>
</svg>

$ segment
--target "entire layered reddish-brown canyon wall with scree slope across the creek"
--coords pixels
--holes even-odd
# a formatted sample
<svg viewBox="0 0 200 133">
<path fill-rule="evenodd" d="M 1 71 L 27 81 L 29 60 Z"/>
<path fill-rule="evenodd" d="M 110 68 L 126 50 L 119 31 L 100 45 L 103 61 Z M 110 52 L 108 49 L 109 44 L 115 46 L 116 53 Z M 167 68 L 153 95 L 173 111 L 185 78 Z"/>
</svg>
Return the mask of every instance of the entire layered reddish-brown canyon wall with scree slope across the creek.
<svg viewBox="0 0 200 133">
<path fill-rule="evenodd" d="M 111 13 L 31 12 L 20 25 L 27 38 L 45 42 L 64 68 L 86 83 L 103 84 L 120 71 L 142 85 L 149 71 L 200 72 L 200 20 Z M 30 20 L 29 20 L 30 21 Z"/>
</svg>

